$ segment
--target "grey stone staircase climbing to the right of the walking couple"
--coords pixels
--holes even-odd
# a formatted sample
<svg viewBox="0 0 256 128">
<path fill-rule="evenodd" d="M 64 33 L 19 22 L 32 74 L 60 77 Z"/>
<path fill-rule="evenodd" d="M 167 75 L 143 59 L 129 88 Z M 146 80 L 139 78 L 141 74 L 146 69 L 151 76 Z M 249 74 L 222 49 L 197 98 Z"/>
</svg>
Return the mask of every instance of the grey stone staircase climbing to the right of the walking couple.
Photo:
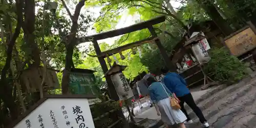
<svg viewBox="0 0 256 128">
<path fill-rule="evenodd" d="M 196 100 L 210 127 L 256 127 L 256 78 L 254 77 L 255 75 L 251 75 L 228 87 L 225 84 L 220 85 Z M 194 121 L 186 127 L 202 127 L 198 117 L 189 106 L 185 105 L 185 108 Z"/>
</svg>

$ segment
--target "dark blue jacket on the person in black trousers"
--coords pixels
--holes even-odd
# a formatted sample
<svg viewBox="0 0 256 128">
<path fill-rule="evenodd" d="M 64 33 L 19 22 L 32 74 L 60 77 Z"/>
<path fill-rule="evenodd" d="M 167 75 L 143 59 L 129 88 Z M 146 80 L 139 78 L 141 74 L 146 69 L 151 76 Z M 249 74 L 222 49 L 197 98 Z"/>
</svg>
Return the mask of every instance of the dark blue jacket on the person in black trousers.
<svg viewBox="0 0 256 128">
<path fill-rule="evenodd" d="M 177 73 L 167 73 L 163 78 L 165 86 L 172 92 L 175 93 L 177 97 L 182 97 L 189 94 L 190 91 L 187 88 L 187 83 L 184 78 L 182 78 Z"/>
</svg>

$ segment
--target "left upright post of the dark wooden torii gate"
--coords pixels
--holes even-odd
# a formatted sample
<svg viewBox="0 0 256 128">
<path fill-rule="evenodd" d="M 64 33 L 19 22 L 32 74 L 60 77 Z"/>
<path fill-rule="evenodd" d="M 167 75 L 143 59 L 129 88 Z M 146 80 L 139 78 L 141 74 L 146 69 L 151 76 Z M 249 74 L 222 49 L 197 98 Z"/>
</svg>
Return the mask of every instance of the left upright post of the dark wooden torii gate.
<svg viewBox="0 0 256 128">
<path fill-rule="evenodd" d="M 92 42 L 93 42 L 93 46 L 94 46 L 96 55 L 98 56 L 99 63 L 103 70 L 103 73 L 106 73 L 108 71 L 108 66 L 106 66 L 106 62 L 105 62 L 104 58 L 101 56 L 99 44 L 98 44 L 97 40 L 95 40 L 95 39 L 93 39 Z M 106 78 L 106 83 L 108 84 L 110 98 L 113 100 L 116 100 L 116 101 L 119 100 L 119 96 L 117 95 L 116 89 L 111 80 L 111 76 L 108 75 L 108 76 L 105 76 L 105 78 Z"/>
</svg>

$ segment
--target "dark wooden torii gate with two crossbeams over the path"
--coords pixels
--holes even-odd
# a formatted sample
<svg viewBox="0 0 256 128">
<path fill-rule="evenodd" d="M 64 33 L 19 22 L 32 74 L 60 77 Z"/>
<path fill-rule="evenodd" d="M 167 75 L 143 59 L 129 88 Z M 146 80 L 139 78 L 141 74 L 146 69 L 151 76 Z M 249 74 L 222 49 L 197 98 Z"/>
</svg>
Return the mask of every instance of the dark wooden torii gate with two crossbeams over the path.
<svg viewBox="0 0 256 128">
<path fill-rule="evenodd" d="M 151 42 L 152 40 L 155 40 L 155 43 L 156 43 L 157 47 L 159 48 L 160 53 L 163 56 L 166 67 L 168 67 L 168 69 L 170 71 L 176 72 L 175 67 L 173 66 L 173 63 L 170 61 L 164 47 L 162 46 L 159 38 L 157 37 L 157 34 L 156 34 L 154 28 L 153 28 L 153 25 L 162 23 L 164 21 L 165 21 L 165 16 L 159 16 L 159 17 L 153 18 L 151 20 L 147 20 L 145 22 L 141 22 L 141 23 L 129 26 L 129 27 L 125 27 L 125 28 L 121 28 L 121 29 L 116 29 L 116 30 L 112 30 L 112 31 L 108 31 L 108 32 L 103 32 L 103 33 L 99 33 L 99 34 L 79 38 L 79 42 L 88 42 L 88 41 L 93 42 L 93 46 L 94 46 L 96 55 L 98 57 L 98 60 L 100 62 L 101 68 L 102 68 L 103 72 L 106 73 L 108 71 L 108 67 L 107 67 L 106 62 L 104 60 L 105 57 L 112 56 L 113 54 L 117 54 L 119 52 L 122 52 L 122 51 L 125 51 L 125 50 L 128 50 L 128 49 L 132 49 L 134 47 L 138 47 L 138 46 L 143 45 L 145 43 Z M 111 49 L 111 50 L 108 50 L 108 51 L 101 52 L 97 40 L 101 40 L 101 39 L 105 39 L 105 38 L 111 38 L 111 37 L 115 37 L 115 36 L 126 34 L 126 33 L 131 33 L 131 32 L 142 30 L 142 29 L 148 29 L 151 32 L 152 36 L 149 37 L 149 38 L 140 40 L 140 41 L 132 42 L 131 44 L 127 44 L 127 45 L 120 46 L 120 47 L 115 48 L 115 49 Z M 111 80 L 111 77 L 107 76 L 105 78 L 106 78 L 106 83 L 108 84 L 108 87 L 109 87 L 109 92 L 110 92 L 111 99 L 119 100 L 119 97 L 118 97 L 118 95 L 116 93 L 116 90 L 114 88 L 114 84 Z"/>
</svg>

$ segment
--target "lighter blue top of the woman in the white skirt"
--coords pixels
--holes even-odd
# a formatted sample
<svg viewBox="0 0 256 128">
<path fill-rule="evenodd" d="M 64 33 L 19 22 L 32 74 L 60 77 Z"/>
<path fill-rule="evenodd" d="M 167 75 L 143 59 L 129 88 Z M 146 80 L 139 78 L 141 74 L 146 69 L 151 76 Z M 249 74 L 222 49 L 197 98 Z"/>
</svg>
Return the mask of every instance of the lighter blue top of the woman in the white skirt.
<svg viewBox="0 0 256 128">
<path fill-rule="evenodd" d="M 163 87 L 168 94 L 165 92 Z M 161 82 L 153 82 L 151 86 L 148 87 L 148 91 L 153 103 L 157 103 L 158 101 L 168 98 L 170 95 L 172 95 L 172 92 L 170 92 Z"/>
</svg>

